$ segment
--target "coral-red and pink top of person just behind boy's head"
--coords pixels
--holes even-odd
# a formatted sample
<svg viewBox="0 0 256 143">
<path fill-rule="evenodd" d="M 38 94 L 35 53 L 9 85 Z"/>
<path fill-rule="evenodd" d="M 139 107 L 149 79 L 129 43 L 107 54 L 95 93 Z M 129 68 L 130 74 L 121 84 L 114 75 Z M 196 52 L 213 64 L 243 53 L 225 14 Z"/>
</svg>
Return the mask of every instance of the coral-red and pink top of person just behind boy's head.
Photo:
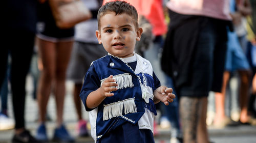
<svg viewBox="0 0 256 143">
<path fill-rule="evenodd" d="M 110 1 L 114 0 L 104 0 L 103 4 Z M 139 15 L 145 16 L 153 26 L 154 35 L 163 35 L 167 32 L 161 0 L 125 0 L 125 2 L 133 5 Z"/>
</svg>

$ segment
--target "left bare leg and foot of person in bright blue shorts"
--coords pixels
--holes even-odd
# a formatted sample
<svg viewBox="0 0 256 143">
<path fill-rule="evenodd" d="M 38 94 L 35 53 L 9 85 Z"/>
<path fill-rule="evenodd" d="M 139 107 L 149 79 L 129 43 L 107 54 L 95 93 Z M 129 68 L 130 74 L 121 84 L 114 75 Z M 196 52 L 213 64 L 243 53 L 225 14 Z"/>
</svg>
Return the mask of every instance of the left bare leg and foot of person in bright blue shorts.
<svg viewBox="0 0 256 143">
<path fill-rule="evenodd" d="M 226 87 L 227 82 L 229 80 L 230 72 L 225 71 L 223 74 L 223 82 L 222 82 L 222 91 L 221 93 L 215 93 L 215 106 L 216 106 L 216 114 L 214 124 L 216 127 L 223 127 L 223 121 L 226 119 L 225 114 L 225 95 L 226 95 Z"/>
</svg>

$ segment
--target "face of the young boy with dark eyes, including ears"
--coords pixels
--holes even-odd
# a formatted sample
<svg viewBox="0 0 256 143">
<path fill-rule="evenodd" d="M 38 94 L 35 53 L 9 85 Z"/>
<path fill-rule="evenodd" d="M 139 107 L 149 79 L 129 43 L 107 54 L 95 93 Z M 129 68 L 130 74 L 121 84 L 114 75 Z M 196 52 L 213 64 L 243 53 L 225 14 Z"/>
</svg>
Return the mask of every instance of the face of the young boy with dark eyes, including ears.
<svg viewBox="0 0 256 143">
<path fill-rule="evenodd" d="M 100 29 L 96 31 L 99 44 L 120 58 L 133 56 L 136 40 L 139 41 L 142 28 L 137 28 L 132 16 L 108 12 L 100 18 Z"/>
</svg>

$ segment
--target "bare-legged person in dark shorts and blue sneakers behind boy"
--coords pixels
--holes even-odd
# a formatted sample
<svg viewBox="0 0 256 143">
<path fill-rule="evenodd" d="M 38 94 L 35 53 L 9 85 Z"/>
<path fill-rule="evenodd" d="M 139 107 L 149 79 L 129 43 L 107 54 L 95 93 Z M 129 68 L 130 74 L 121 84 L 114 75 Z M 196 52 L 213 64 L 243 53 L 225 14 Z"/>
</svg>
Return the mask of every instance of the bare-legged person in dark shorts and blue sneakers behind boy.
<svg viewBox="0 0 256 143">
<path fill-rule="evenodd" d="M 39 127 L 36 131 L 36 138 L 48 141 L 46 110 L 51 91 L 53 91 L 57 111 L 53 140 L 73 142 L 74 138 L 63 124 L 63 108 L 66 91 L 66 70 L 72 51 L 74 27 L 67 29 L 57 27 L 49 1 L 42 0 L 38 6 L 36 36 L 38 38 L 39 58 L 42 62 L 42 71 L 37 88 Z"/>
</svg>

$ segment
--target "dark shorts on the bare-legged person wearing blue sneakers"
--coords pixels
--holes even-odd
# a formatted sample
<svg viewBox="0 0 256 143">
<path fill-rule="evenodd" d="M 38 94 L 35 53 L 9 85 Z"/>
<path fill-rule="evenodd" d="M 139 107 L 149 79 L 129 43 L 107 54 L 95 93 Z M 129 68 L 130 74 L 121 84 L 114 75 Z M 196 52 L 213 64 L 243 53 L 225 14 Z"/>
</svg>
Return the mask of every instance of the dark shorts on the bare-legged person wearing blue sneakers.
<svg viewBox="0 0 256 143">
<path fill-rule="evenodd" d="M 68 29 L 58 28 L 48 1 L 38 6 L 37 17 L 36 31 L 37 37 L 40 39 L 52 42 L 73 40 L 74 27 Z"/>
</svg>

